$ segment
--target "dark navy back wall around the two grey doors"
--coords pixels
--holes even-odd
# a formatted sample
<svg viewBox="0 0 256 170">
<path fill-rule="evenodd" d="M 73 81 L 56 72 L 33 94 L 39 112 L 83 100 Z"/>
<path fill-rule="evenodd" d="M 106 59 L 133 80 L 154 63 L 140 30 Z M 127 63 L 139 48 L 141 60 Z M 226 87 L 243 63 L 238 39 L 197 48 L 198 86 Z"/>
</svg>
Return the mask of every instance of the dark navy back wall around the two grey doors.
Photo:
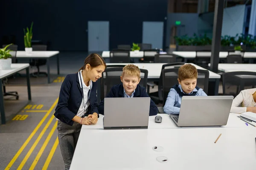
<svg viewBox="0 0 256 170">
<path fill-rule="evenodd" d="M 164 21 L 167 14 L 167 0 L 5 0 L 3 6 L 0 36 L 15 35 L 20 50 L 32 21 L 33 40 L 49 41 L 51 50 L 87 51 L 88 20 L 110 21 L 113 49 L 141 43 L 143 21 Z"/>
</svg>

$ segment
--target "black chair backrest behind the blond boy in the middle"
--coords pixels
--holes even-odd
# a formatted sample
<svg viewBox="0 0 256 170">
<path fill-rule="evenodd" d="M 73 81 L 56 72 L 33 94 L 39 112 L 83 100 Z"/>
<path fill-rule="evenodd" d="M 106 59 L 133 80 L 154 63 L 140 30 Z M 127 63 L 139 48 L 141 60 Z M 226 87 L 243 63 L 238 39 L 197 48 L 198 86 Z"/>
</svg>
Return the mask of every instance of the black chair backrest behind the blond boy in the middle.
<svg viewBox="0 0 256 170">
<path fill-rule="evenodd" d="M 101 87 L 100 87 L 100 96 L 101 101 L 105 98 L 105 96 L 110 92 L 111 88 L 116 84 L 121 84 L 120 76 L 122 75 L 123 67 L 111 67 L 106 68 L 104 72 L 102 72 Z M 148 70 L 140 69 L 140 85 L 147 88 L 148 82 Z"/>
</svg>

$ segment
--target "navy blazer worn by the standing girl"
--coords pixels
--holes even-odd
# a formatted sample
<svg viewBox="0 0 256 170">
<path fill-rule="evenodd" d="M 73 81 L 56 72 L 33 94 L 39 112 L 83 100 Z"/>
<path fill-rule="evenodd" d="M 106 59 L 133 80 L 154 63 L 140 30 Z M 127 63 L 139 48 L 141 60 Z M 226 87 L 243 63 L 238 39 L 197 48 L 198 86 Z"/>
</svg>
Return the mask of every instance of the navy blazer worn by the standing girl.
<svg viewBox="0 0 256 170">
<path fill-rule="evenodd" d="M 88 95 L 90 93 L 90 96 L 88 96 L 88 101 L 90 102 L 90 105 L 88 107 L 88 111 L 84 116 L 96 112 L 99 118 L 96 90 L 97 81 L 92 83 L 91 92 L 88 92 Z M 58 118 L 60 121 L 72 126 L 74 123 L 72 119 L 77 114 L 82 99 L 83 96 L 79 84 L 78 74 L 75 73 L 67 75 L 61 85 L 58 104 L 54 113 L 55 117 Z"/>
</svg>

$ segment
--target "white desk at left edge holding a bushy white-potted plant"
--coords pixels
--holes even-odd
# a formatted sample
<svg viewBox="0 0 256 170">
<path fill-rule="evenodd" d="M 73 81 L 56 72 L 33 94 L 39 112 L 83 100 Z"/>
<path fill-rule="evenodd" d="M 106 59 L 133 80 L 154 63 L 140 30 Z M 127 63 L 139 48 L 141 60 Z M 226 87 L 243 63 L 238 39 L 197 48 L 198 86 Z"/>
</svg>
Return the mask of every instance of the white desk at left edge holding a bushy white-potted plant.
<svg viewBox="0 0 256 170">
<path fill-rule="evenodd" d="M 20 63 L 20 64 L 12 64 L 11 65 L 12 69 L 9 70 L 1 70 L 0 69 L 0 112 L 1 112 L 1 121 L 2 124 L 6 123 L 6 118 L 5 118 L 5 112 L 4 112 L 4 105 L 3 105 L 3 84 L 2 80 L 4 78 L 7 78 L 11 75 L 14 75 L 15 73 L 26 69 L 26 78 L 27 78 L 27 87 L 28 87 L 28 98 L 29 101 L 31 100 L 31 91 L 30 91 L 30 80 L 29 80 L 29 64 L 28 63 Z"/>
</svg>

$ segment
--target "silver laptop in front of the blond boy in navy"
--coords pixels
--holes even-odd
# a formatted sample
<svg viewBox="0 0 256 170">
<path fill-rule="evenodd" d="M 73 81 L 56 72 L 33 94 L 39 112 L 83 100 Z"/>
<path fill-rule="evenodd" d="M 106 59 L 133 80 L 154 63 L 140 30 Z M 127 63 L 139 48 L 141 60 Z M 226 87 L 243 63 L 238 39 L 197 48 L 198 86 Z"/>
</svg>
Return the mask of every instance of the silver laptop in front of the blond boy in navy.
<svg viewBox="0 0 256 170">
<path fill-rule="evenodd" d="M 150 98 L 105 98 L 104 129 L 147 129 Z"/>
</svg>

